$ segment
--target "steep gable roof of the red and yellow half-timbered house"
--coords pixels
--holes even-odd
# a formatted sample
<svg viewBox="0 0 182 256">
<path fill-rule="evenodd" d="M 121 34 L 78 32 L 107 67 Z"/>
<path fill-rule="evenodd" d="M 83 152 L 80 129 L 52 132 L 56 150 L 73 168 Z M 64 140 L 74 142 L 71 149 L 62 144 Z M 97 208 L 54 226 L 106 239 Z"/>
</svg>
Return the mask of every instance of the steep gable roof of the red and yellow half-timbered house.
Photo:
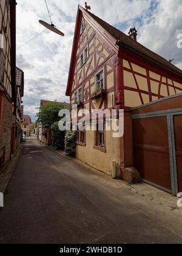
<svg viewBox="0 0 182 256">
<path fill-rule="evenodd" d="M 112 39 L 109 38 L 109 41 L 113 43 L 113 45 L 115 44 L 115 46 L 119 46 L 121 48 L 127 49 L 128 51 L 132 51 L 133 54 L 140 55 L 140 57 L 147 59 L 152 63 L 155 63 L 155 65 L 161 66 L 162 68 L 167 69 L 171 73 L 174 73 L 177 76 L 182 77 L 182 71 L 180 68 L 177 68 L 177 66 L 168 62 L 166 59 L 156 54 L 155 52 L 150 51 L 150 49 L 147 49 L 145 46 L 138 43 L 138 41 L 133 40 L 132 38 L 130 38 L 129 36 L 121 32 L 120 30 L 106 23 L 106 21 L 101 20 L 101 18 L 99 18 L 98 16 L 94 15 L 91 12 L 88 12 L 86 9 L 81 7 L 81 5 L 78 5 L 78 13 L 76 16 L 76 25 L 75 25 L 75 35 L 73 39 L 72 56 L 70 60 L 69 77 L 68 77 L 67 89 L 66 89 L 67 96 L 70 96 L 70 91 L 72 89 L 71 85 L 72 85 L 73 73 L 75 70 L 75 60 L 76 60 L 75 47 L 78 44 L 79 29 L 81 26 L 81 13 L 84 13 L 84 16 L 86 16 L 93 24 L 96 24 L 98 30 L 104 29 L 104 32 L 102 32 L 102 34 L 104 34 L 105 37 L 112 38 Z"/>
</svg>

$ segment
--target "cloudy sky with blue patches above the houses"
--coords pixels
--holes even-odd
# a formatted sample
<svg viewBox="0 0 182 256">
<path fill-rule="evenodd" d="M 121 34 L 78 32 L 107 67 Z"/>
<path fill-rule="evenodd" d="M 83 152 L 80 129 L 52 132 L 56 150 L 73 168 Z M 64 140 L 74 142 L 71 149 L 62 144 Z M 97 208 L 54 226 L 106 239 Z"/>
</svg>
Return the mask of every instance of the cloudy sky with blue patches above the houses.
<svg viewBox="0 0 182 256">
<path fill-rule="evenodd" d="M 53 23 L 65 37 L 45 30 L 50 23 L 44 0 L 17 0 L 17 66 L 25 73 L 24 111 L 35 120 L 40 99 L 69 102 L 65 96 L 78 4 L 85 1 L 47 0 Z M 182 69 L 181 0 L 88 0 L 92 12 L 127 34 L 138 30 L 138 41 Z M 36 37 L 24 45 L 25 42 Z M 24 45 L 24 46 L 23 46 Z"/>
</svg>

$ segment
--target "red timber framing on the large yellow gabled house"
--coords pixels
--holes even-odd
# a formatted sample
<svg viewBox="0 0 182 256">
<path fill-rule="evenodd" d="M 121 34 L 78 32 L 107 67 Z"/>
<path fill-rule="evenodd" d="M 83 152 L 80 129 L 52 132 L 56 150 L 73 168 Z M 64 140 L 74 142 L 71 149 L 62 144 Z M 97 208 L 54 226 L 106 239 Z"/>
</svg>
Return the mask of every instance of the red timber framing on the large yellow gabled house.
<svg viewBox="0 0 182 256">
<path fill-rule="evenodd" d="M 90 34 L 90 37 L 87 39 L 84 46 L 81 47 L 81 44 L 79 43 L 79 38 L 81 37 L 79 31 L 81 26 L 82 18 L 88 23 L 90 26 L 92 26 L 94 32 L 93 34 Z M 82 34 L 84 38 L 86 38 L 86 35 L 84 35 L 84 32 Z M 96 40 L 99 41 L 99 44 L 96 46 Z M 83 73 L 79 72 L 78 68 L 78 61 L 79 61 L 79 54 L 83 52 L 86 45 L 89 43 L 92 43 L 90 48 L 94 47 L 95 52 L 90 53 L 89 60 L 86 61 L 86 63 L 83 65 Z M 101 45 L 104 45 L 106 47 L 106 50 L 109 52 L 109 57 L 104 58 L 104 62 L 99 65 L 99 59 L 103 57 L 103 49 L 101 51 L 98 51 L 98 48 L 101 47 Z M 99 55 L 99 59 L 96 60 L 95 55 Z M 155 56 L 156 57 L 156 56 Z M 92 60 L 94 58 L 94 64 L 92 63 Z M 123 60 L 127 60 L 129 63 L 128 68 L 126 68 L 123 65 Z M 132 64 L 138 65 L 141 68 L 146 69 L 146 75 L 136 72 Z M 110 69 L 107 70 L 107 66 L 110 66 Z M 158 62 L 156 59 L 152 60 L 151 57 L 147 57 L 147 55 L 141 54 L 135 49 L 132 49 L 129 46 L 126 47 L 126 45 L 121 44 L 119 41 L 116 40 L 109 32 L 104 29 L 101 24 L 99 24 L 92 15 L 90 15 L 89 12 L 87 12 L 85 9 L 83 9 L 81 6 L 78 7 L 78 14 L 76 17 L 76 27 L 75 27 L 75 36 L 73 40 L 73 48 L 72 48 L 72 56 L 70 61 L 70 70 L 69 70 L 69 79 L 67 82 L 67 89 L 66 89 L 66 95 L 70 96 L 70 108 L 72 110 L 72 102 L 73 102 L 73 95 L 76 90 L 78 90 L 80 87 L 83 87 L 83 106 L 81 108 L 84 108 L 86 104 L 89 104 L 89 112 L 90 116 L 92 113 L 92 110 L 95 109 L 95 104 L 92 99 L 90 99 L 90 95 L 92 94 L 92 89 L 95 86 L 95 82 L 92 80 L 92 77 L 95 77 L 95 75 L 101 71 L 101 69 L 104 68 L 104 79 L 105 79 L 105 90 L 106 94 L 103 96 L 101 101 L 99 102 L 98 108 L 108 108 L 108 100 L 107 95 L 109 93 L 114 93 L 114 102 L 113 106 L 117 110 L 124 109 L 124 137 L 120 139 L 120 165 L 121 169 L 124 169 L 128 166 L 133 165 L 133 153 L 132 153 L 132 119 L 131 119 L 131 112 L 127 111 L 130 109 L 126 105 L 126 100 L 124 99 L 124 91 L 135 91 L 139 94 L 141 104 L 144 104 L 143 96 L 142 94 L 149 95 L 149 101 L 152 102 L 152 97 L 156 98 L 164 98 L 163 95 L 160 93 L 161 85 L 166 85 L 167 87 L 167 94 L 169 96 L 169 88 L 174 88 L 175 93 L 177 93 L 177 90 L 181 90 L 181 88 L 178 88 L 175 86 L 174 82 L 177 82 L 179 84 L 182 84 L 182 75 L 176 71 L 175 69 L 170 68 L 169 66 L 165 66 L 164 64 Z M 86 70 L 87 69 L 87 70 Z M 89 73 L 89 70 L 92 72 Z M 129 71 L 132 73 L 133 79 L 135 80 L 136 88 L 127 87 L 124 85 L 124 71 Z M 153 79 L 150 77 L 149 73 L 153 72 L 155 74 L 158 74 L 160 76 L 160 81 L 157 79 Z M 110 73 L 113 72 L 114 76 L 114 82 L 113 87 L 109 88 L 107 85 L 107 76 L 109 76 Z M 75 76 L 76 74 L 76 76 Z M 138 85 L 136 76 L 144 77 L 147 80 L 147 91 L 141 90 L 140 86 Z M 167 79 L 172 80 L 172 84 L 169 85 L 166 82 L 164 82 L 162 79 L 163 77 L 167 77 Z M 157 93 L 153 93 L 151 90 L 151 84 L 150 81 L 158 82 L 159 88 Z M 75 85 L 75 87 L 74 87 Z M 78 108 L 81 109 L 81 108 Z M 94 143 L 94 142 L 93 142 Z M 106 147 L 107 148 L 107 147 Z M 107 152 L 107 150 L 106 150 Z"/>
</svg>

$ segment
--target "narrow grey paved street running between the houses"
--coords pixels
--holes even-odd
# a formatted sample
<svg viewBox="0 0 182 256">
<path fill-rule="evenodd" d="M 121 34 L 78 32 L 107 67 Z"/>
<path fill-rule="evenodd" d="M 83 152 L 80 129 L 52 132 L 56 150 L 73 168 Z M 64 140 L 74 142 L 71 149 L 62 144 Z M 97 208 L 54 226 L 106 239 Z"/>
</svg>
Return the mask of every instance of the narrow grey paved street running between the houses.
<svg viewBox="0 0 182 256">
<path fill-rule="evenodd" d="M 182 243 L 135 204 L 140 196 L 104 176 L 27 138 L 0 211 L 0 243 Z"/>
</svg>

